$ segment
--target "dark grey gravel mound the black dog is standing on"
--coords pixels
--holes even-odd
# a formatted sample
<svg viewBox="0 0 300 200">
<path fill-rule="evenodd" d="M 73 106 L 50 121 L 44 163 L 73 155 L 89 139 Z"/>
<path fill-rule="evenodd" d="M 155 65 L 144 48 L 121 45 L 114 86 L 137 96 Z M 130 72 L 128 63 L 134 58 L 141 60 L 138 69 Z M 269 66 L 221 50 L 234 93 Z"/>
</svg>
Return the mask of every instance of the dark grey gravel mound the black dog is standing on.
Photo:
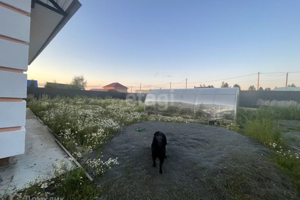
<svg viewBox="0 0 300 200">
<path fill-rule="evenodd" d="M 152 167 L 156 131 L 168 142 L 163 174 L 158 159 Z M 269 162 L 270 149 L 220 127 L 136 123 L 115 134 L 102 152 L 119 164 L 95 180 L 103 189 L 99 199 L 297 199 L 292 182 Z"/>
</svg>

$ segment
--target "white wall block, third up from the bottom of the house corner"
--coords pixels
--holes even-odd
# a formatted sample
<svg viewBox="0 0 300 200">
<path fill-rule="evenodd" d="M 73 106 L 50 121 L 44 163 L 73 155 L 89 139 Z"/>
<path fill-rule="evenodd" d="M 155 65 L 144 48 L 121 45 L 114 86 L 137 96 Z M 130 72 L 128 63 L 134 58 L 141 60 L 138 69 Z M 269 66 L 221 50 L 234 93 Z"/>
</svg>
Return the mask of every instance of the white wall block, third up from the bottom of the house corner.
<svg viewBox="0 0 300 200">
<path fill-rule="evenodd" d="M 26 92 L 27 74 L 0 71 L 0 98 L 26 98 Z"/>
</svg>

